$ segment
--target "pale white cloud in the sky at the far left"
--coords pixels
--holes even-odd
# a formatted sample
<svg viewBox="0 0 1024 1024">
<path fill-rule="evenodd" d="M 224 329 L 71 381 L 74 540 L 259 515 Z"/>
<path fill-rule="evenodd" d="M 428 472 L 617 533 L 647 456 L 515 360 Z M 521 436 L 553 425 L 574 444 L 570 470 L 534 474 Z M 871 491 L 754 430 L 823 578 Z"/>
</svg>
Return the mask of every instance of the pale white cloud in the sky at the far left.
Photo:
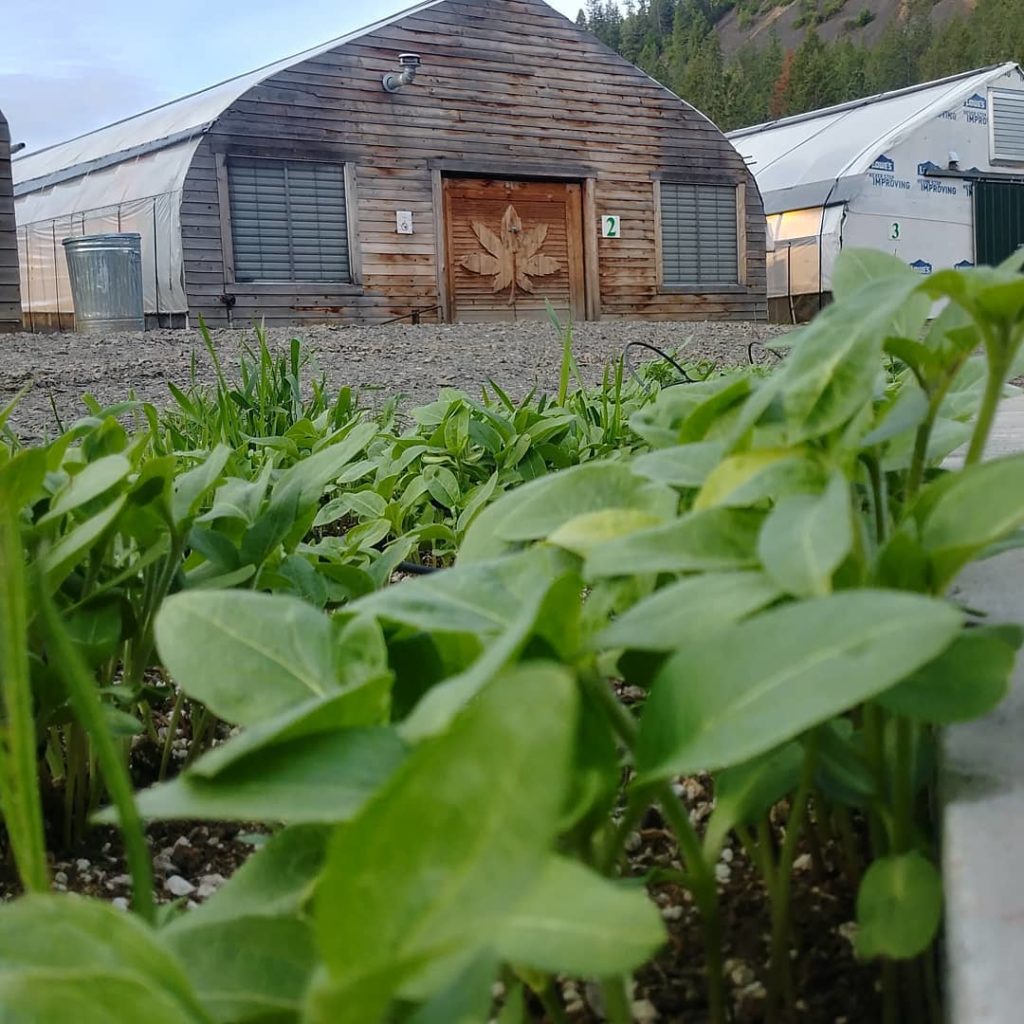
<svg viewBox="0 0 1024 1024">
<path fill-rule="evenodd" d="M 152 79 L 112 68 L 0 73 L 0 110 L 13 141 L 29 150 L 62 142 L 171 98 Z"/>
</svg>

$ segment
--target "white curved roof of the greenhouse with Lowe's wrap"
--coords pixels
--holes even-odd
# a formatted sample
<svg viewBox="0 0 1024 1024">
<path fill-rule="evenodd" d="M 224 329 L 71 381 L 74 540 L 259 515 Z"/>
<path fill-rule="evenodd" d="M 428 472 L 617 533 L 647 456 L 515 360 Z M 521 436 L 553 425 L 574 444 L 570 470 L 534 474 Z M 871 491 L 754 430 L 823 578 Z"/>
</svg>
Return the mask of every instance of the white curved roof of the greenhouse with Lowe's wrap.
<svg viewBox="0 0 1024 1024">
<path fill-rule="evenodd" d="M 884 92 L 808 114 L 730 132 L 757 178 L 765 212 L 777 213 L 839 203 L 850 198 L 852 179 L 915 128 L 976 94 L 1016 63 Z"/>
</svg>

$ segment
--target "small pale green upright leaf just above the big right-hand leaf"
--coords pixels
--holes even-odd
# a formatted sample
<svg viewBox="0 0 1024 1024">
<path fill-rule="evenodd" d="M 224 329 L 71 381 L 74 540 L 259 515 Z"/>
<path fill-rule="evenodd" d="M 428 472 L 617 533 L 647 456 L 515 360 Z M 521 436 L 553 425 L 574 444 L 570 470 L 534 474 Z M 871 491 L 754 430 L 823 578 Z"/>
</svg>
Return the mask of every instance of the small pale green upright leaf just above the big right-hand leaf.
<svg viewBox="0 0 1024 1024">
<path fill-rule="evenodd" d="M 758 538 L 765 571 L 782 590 L 798 597 L 827 594 L 833 573 L 852 547 L 850 488 L 839 473 L 822 495 L 783 498 Z"/>
</svg>

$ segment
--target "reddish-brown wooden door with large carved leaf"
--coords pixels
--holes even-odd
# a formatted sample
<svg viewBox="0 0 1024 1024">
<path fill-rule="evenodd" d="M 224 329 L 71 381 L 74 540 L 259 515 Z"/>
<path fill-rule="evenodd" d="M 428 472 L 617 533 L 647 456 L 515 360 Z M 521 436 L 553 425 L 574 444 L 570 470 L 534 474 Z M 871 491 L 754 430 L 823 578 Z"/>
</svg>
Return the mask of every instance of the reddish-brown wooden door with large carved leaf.
<svg viewBox="0 0 1024 1024">
<path fill-rule="evenodd" d="M 579 184 L 446 178 L 449 315 L 586 318 Z"/>
</svg>

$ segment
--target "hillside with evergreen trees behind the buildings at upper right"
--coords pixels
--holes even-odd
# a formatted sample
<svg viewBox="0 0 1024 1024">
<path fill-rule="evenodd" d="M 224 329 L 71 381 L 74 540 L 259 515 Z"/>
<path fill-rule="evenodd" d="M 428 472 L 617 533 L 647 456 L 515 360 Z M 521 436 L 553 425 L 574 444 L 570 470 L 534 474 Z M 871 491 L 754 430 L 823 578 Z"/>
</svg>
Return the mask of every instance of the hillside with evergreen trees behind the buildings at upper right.
<svg viewBox="0 0 1024 1024">
<path fill-rule="evenodd" d="M 1024 58 L 1022 0 L 587 0 L 578 22 L 725 130 Z"/>
</svg>

